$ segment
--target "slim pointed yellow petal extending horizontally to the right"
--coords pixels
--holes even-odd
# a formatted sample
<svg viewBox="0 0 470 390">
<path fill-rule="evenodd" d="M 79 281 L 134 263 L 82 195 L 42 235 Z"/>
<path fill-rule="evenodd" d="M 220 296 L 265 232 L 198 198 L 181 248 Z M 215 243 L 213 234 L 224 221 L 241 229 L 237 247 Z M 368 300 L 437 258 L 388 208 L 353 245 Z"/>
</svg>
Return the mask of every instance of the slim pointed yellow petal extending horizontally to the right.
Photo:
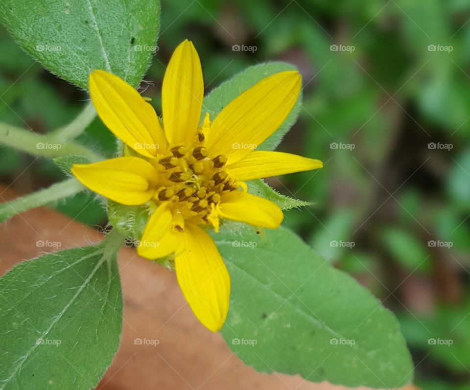
<svg viewBox="0 0 470 390">
<path fill-rule="evenodd" d="M 237 180 L 253 180 L 321 168 L 322 161 L 282 152 L 253 151 L 227 166 Z"/>
</svg>

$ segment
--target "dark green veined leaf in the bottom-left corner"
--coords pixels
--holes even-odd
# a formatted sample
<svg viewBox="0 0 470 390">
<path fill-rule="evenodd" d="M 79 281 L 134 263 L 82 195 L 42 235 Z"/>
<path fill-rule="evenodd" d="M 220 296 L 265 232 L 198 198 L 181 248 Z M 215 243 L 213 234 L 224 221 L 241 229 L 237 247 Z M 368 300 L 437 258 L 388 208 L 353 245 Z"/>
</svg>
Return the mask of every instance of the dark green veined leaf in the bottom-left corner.
<svg viewBox="0 0 470 390">
<path fill-rule="evenodd" d="M 1 390 L 96 386 L 118 349 L 122 319 L 122 241 L 105 242 L 25 261 L 0 279 Z"/>
</svg>

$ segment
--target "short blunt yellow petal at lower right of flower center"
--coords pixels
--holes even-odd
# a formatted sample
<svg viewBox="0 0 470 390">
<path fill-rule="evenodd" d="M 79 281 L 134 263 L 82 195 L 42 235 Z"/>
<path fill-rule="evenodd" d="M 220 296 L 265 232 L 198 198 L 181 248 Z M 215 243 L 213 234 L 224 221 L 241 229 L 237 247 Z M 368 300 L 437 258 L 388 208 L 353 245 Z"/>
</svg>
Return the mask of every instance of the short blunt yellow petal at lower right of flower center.
<svg viewBox="0 0 470 390">
<path fill-rule="evenodd" d="M 284 217 L 274 203 L 241 191 L 222 196 L 219 214 L 223 218 L 269 229 L 279 227 Z"/>
</svg>

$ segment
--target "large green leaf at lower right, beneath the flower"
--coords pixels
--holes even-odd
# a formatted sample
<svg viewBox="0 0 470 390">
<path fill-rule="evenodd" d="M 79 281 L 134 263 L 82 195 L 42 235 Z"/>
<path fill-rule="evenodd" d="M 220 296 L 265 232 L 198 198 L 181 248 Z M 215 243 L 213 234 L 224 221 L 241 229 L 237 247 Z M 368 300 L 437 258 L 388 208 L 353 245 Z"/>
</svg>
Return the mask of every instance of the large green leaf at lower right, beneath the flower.
<svg viewBox="0 0 470 390">
<path fill-rule="evenodd" d="M 396 388 L 412 363 L 394 315 L 288 229 L 214 235 L 232 279 L 222 335 L 261 372 Z"/>
</svg>

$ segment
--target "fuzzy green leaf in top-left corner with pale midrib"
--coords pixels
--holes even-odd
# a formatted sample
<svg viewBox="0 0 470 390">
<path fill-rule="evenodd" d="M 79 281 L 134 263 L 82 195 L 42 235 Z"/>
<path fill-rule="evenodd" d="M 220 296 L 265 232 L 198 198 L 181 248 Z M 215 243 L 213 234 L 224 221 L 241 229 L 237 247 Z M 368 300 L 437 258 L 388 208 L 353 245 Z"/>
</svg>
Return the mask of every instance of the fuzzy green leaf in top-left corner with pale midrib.
<svg viewBox="0 0 470 390">
<path fill-rule="evenodd" d="M 160 1 L 5 0 L 0 18 L 24 50 L 80 88 L 93 69 L 137 86 L 156 47 Z"/>
</svg>

